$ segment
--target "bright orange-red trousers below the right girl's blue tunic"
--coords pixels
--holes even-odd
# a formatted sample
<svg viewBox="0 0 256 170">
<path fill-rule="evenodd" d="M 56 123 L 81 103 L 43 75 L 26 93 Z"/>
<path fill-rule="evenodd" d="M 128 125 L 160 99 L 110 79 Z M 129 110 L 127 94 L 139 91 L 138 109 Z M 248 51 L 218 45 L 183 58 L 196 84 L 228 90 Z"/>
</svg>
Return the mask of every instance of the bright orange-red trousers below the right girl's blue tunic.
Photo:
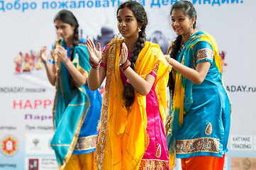
<svg viewBox="0 0 256 170">
<path fill-rule="evenodd" d="M 225 154 L 223 154 L 223 157 L 182 158 L 182 170 L 223 170 L 224 162 Z"/>
</svg>

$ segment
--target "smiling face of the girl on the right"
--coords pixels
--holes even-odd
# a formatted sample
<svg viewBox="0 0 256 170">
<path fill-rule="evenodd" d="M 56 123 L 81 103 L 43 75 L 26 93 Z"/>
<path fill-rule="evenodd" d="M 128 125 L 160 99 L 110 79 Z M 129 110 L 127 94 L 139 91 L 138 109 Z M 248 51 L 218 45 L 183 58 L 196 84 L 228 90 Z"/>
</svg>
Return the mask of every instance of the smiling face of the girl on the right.
<svg viewBox="0 0 256 170">
<path fill-rule="evenodd" d="M 190 34 L 193 32 L 193 26 L 195 17 L 189 18 L 186 16 L 182 9 L 174 9 L 171 15 L 171 25 L 172 29 L 177 35 L 182 35 L 184 39 L 189 38 Z"/>
</svg>

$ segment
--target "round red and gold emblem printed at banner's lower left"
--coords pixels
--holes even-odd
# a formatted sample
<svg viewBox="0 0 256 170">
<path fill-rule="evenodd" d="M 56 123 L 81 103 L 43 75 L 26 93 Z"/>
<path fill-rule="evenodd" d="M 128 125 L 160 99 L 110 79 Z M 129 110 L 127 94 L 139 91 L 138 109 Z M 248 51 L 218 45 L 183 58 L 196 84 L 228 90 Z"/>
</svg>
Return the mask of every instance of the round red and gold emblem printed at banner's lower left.
<svg viewBox="0 0 256 170">
<path fill-rule="evenodd" d="M 14 137 L 7 136 L 1 141 L 1 150 L 7 156 L 11 156 L 16 153 L 18 148 L 17 140 Z"/>
</svg>

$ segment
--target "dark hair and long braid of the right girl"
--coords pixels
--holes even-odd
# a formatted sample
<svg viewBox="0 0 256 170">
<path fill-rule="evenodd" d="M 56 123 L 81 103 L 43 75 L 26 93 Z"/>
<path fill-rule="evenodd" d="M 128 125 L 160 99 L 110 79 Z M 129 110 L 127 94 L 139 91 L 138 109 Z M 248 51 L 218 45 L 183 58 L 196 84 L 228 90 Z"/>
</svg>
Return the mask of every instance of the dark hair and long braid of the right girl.
<svg viewBox="0 0 256 170">
<path fill-rule="evenodd" d="M 189 18 L 196 18 L 196 10 L 193 4 L 190 1 L 177 1 L 175 4 L 172 5 L 170 15 L 172 15 L 172 11 L 174 9 L 182 9 L 183 13 L 188 16 Z M 196 20 L 193 24 L 193 28 L 196 28 Z M 174 45 L 172 45 L 172 51 L 170 53 L 170 57 L 176 60 L 177 52 L 180 49 L 182 43 L 182 35 L 178 35 L 176 40 L 174 41 Z M 169 73 L 169 92 L 170 94 L 174 94 L 174 79 L 172 77 L 172 72 Z"/>
</svg>

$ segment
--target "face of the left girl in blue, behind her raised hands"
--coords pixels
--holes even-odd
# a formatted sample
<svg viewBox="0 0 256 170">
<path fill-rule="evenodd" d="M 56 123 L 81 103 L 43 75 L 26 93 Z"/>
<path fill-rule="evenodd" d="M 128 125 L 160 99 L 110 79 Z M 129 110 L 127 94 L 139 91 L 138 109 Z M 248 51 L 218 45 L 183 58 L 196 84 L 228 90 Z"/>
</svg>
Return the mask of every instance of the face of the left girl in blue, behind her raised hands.
<svg viewBox="0 0 256 170">
<path fill-rule="evenodd" d="M 56 28 L 56 32 L 57 34 L 65 39 L 65 41 L 67 42 L 67 40 L 72 40 L 73 36 L 74 36 L 74 26 L 71 26 L 68 23 L 63 23 L 63 21 L 61 20 L 56 20 L 55 21 L 55 28 Z"/>
</svg>

